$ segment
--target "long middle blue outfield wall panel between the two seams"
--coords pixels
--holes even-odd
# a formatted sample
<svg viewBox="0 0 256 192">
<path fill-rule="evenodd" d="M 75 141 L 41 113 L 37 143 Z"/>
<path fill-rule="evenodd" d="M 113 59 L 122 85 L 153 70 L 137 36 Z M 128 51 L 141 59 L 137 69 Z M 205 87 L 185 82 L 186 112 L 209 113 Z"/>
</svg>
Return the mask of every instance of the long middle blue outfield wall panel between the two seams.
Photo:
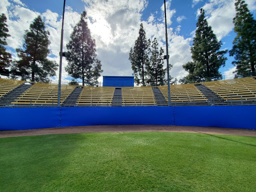
<svg viewBox="0 0 256 192">
<path fill-rule="evenodd" d="M 173 107 L 62 107 L 60 126 L 104 124 L 159 124 L 173 125 Z"/>
</svg>

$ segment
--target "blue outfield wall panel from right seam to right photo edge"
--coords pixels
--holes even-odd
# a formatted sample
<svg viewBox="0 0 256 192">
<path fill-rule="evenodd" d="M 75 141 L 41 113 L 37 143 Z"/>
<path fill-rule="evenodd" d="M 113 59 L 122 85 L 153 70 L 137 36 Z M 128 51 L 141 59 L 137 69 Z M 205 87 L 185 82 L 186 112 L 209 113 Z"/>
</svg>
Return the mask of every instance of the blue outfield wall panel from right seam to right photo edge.
<svg viewBox="0 0 256 192">
<path fill-rule="evenodd" d="M 175 125 L 256 129 L 256 105 L 174 106 Z"/>
</svg>

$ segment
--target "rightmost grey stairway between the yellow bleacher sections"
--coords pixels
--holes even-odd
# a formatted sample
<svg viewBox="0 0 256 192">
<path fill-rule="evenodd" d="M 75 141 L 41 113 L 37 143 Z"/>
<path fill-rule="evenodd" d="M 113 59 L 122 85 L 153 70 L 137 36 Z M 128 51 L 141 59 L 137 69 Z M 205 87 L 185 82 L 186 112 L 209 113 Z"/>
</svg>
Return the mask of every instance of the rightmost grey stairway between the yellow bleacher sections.
<svg viewBox="0 0 256 192">
<path fill-rule="evenodd" d="M 201 83 L 194 84 L 208 99 L 209 105 L 226 105 L 227 102 Z"/>
</svg>

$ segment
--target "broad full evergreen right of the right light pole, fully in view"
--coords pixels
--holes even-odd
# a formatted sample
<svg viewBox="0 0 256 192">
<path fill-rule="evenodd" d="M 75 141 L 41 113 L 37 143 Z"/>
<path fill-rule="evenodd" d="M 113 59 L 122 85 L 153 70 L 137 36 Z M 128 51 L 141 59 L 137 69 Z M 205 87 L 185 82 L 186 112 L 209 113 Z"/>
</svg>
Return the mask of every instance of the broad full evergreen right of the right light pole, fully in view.
<svg viewBox="0 0 256 192">
<path fill-rule="evenodd" d="M 225 64 L 226 57 L 224 54 L 227 50 L 219 50 L 222 43 L 217 40 L 211 26 L 208 26 L 203 9 L 201 9 L 196 27 L 193 46 L 191 47 L 193 61 L 183 65 L 183 68 L 189 72 L 183 80 L 189 81 L 194 78 L 219 79 L 221 74 L 218 69 Z"/>
</svg>

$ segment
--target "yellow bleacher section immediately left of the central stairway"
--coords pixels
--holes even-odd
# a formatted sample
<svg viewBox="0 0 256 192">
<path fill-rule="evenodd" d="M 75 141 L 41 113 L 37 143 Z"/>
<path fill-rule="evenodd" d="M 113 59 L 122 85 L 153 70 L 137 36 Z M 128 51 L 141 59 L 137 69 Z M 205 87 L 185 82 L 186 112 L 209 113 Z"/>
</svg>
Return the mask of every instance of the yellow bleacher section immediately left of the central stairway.
<svg viewBox="0 0 256 192">
<path fill-rule="evenodd" d="M 76 101 L 77 106 L 109 106 L 112 103 L 115 87 L 110 86 L 84 86 Z"/>
</svg>

